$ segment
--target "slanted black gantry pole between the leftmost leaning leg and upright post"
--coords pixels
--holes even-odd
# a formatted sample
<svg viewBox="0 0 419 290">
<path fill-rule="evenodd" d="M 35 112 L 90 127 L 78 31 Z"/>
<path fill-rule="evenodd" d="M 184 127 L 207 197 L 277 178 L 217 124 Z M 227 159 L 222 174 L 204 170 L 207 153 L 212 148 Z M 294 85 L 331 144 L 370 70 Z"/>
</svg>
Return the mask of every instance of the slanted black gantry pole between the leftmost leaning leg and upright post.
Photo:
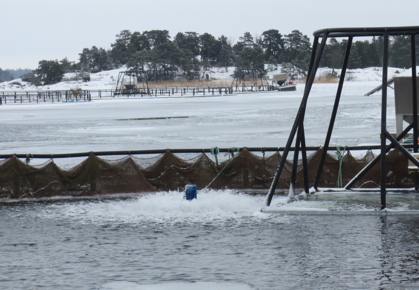
<svg viewBox="0 0 419 290">
<path fill-rule="evenodd" d="M 345 57 L 344 57 L 343 64 L 342 64 L 342 71 L 341 71 L 341 76 L 340 76 L 340 79 L 339 79 L 338 90 L 336 92 L 335 103 L 333 105 L 332 115 L 330 117 L 329 128 L 327 130 L 326 140 L 324 140 L 323 152 L 321 154 L 320 163 L 319 163 L 318 168 L 317 168 L 316 179 L 314 180 L 314 184 L 313 184 L 313 187 L 316 190 L 317 190 L 317 186 L 320 182 L 321 173 L 323 172 L 324 161 L 326 160 L 326 155 L 327 155 L 327 148 L 329 147 L 330 138 L 332 136 L 333 127 L 334 127 L 334 124 L 335 124 L 336 114 L 338 112 L 338 107 L 339 107 L 339 101 L 340 101 L 340 97 L 341 97 L 341 93 L 342 93 L 343 82 L 345 80 L 346 69 L 347 69 L 347 66 L 348 66 L 349 54 L 351 52 L 352 39 L 353 39 L 353 37 L 349 36 L 348 43 L 347 43 L 347 46 L 346 46 L 346 51 L 345 51 Z"/>
</svg>

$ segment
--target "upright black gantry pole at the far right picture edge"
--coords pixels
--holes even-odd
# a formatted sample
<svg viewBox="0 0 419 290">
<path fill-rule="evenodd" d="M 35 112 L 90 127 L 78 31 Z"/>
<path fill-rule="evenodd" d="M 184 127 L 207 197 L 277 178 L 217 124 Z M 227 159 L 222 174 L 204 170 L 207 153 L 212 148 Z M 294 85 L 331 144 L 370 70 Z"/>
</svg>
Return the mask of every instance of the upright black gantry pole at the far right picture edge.
<svg viewBox="0 0 419 290">
<path fill-rule="evenodd" d="M 412 57 L 412 92 L 413 92 L 413 152 L 418 153 L 418 101 L 416 81 L 416 41 L 415 35 L 410 35 Z M 415 176 L 415 190 L 419 189 L 419 176 Z"/>
</svg>

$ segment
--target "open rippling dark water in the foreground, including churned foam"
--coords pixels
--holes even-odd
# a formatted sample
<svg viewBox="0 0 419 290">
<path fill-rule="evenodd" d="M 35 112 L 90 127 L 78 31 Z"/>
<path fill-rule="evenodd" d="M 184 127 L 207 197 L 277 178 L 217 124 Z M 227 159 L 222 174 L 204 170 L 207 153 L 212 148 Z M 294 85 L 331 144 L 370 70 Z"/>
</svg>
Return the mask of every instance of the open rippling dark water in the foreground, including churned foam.
<svg viewBox="0 0 419 290">
<path fill-rule="evenodd" d="M 217 199 L 217 200 L 215 200 Z M 257 289 L 419 289 L 419 217 L 279 216 L 219 192 L 0 203 L 1 289 L 246 282 Z"/>
</svg>

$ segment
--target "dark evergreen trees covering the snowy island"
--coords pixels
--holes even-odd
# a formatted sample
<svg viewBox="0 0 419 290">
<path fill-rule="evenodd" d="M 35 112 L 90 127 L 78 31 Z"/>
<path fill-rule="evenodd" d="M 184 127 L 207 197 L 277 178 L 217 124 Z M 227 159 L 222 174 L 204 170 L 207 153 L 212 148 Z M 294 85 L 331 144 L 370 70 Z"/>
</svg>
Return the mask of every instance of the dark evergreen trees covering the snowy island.
<svg viewBox="0 0 419 290">
<path fill-rule="evenodd" d="M 329 39 L 320 66 L 341 68 L 346 46 L 346 39 Z M 354 41 L 348 68 L 381 66 L 382 46 L 382 37 Z M 297 78 L 307 74 L 311 48 L 310 38 L 298 30 L 284 35 L 277 29 L 260 35 L 245 32 L 235 43 L 224 35 L 216 38 L 193 31 L 178 32 L 171 37 L 168 30 L 123 30 L 109 49 L 84 48 L 78 62 L 67 58 L 41 60 L 34 70 L 36 78 L 28 74 L 26 78 L 34 79 L 36 84 L 51 84 L 62 80 L 65 72 L 94 73 L 127 65 L 129 70 L 147 70 L 150 80 L 194 80 L 204 78 L 202 72 L 211 67 L 259 68 L 266 73 L 266 64 L 270 70 L 281 65 L 291 78 Z M 419 46 L 416 52 L 419 59 Z M 411 67 L 409 36 L 391 36 L 389 53 L 390 67 Z"/>
</svg>

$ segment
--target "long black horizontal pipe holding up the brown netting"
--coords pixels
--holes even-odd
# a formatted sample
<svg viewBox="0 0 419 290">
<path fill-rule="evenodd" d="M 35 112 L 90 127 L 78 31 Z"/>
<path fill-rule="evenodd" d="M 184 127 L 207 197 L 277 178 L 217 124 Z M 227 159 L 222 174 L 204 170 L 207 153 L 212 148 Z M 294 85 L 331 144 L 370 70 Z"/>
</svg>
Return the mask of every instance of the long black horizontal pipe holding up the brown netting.
<svg viewBox="0 0 419 290">
<path fill-rule="evenodd" d="M 413 144 L 402 144 L 404 148 L 413 148 Z M 343 150 L 345 146 L 341 146 L 340 149 Z M 285 147 L 263 147 L 264 151 L 269 152 L 282 152 Z M 306 147 L 307 151 L 317 151 L 321 149 L 322 146 L 308 146 Z M 251 152 L 261 152 L 261 147 L 242 147 L 239 148 L 239 151 L 248 150 Z M 294 150 L 294 147 L 291 147 L 290 150 Z M 347 146 L 346 150 L 378 150 L 380 145 L 362 145 L 362 146 Z M 328 150 L 336 150 L 335 146 L 328 147 Z M 72 158 L 72 157 L 88 157 L 93 154 L 96 156 L 110 156 L 110 155 L 142 155 L 142 154 L 163 154 L 166 151 L 171 153 L 211 153 L 211 148 L 203 149 L 153 149 L 153 150 L 125 150 L 125 151 L 91 151 L 91 152 L 80 152 L 80 153 L 58 153 L 58 154 L 31 154 L 33 158 Z M 220 148 L 220 152 L 231 152 L 231 148 Z M 26 158 L 27 153 L 14 153 L 14 154 L 0 154 L 0 159 L 9 158 L 16 156 L 17 158 Z"/>
</svg>

